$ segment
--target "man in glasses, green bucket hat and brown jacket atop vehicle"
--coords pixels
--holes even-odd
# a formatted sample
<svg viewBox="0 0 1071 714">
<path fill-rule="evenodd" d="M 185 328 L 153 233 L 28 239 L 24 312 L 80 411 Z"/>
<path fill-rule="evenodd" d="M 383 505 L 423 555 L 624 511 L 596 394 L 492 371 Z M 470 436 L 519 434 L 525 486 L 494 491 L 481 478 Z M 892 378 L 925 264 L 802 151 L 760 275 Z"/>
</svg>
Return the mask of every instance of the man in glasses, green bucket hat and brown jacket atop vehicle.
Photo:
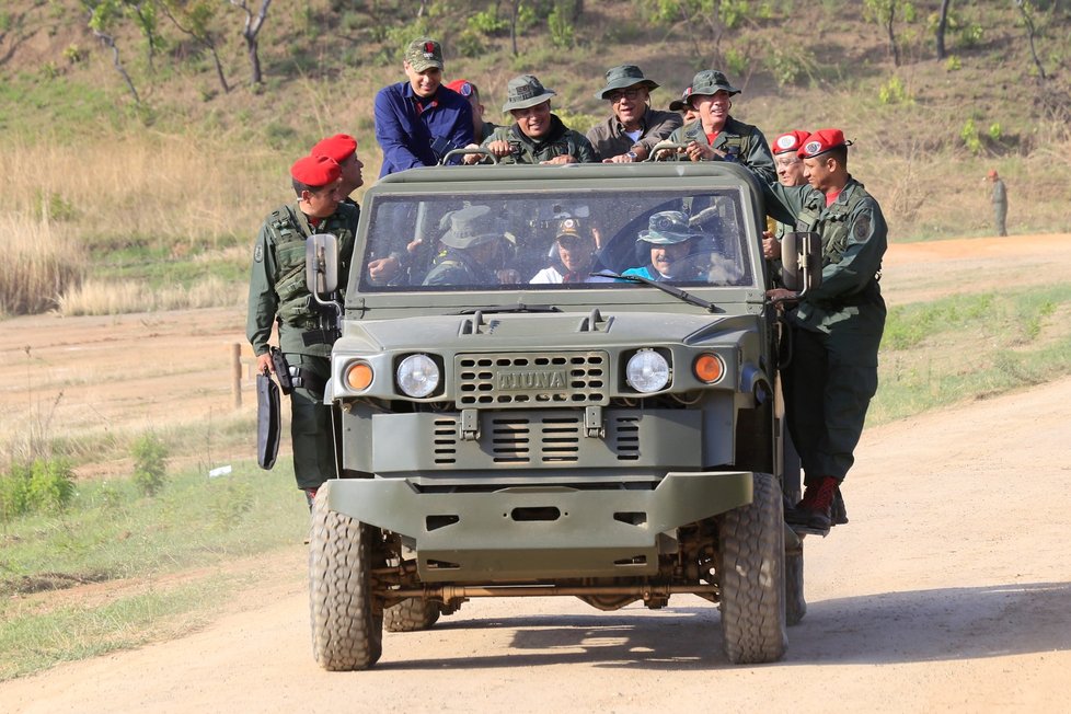
<svg viewBox="0 0 1071 714">
<path fill-rule="evenodd" d="M 635 65 L 607 71 L 607 84 L 595 96 L 609 102 L 610 117 L 587 134 L 603 163 L 644 161 L 656 143 L 683 124 L 676 112 L 652 108 L 650 92 L 657 88 Z"/>
</svg>

